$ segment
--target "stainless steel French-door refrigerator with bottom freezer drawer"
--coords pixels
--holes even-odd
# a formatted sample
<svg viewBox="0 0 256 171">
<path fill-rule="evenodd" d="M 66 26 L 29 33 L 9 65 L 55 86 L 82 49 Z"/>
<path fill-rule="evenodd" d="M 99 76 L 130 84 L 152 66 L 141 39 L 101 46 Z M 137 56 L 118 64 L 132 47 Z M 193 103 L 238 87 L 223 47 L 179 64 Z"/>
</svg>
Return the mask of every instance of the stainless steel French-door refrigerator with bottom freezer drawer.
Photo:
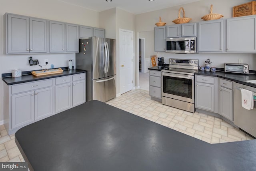
<svg viewBox="0 0 256 171">
<path fill-rule="evenodd" d="M 108 101 L 116 97 L 116 40 L 79 40 L 76 68 L 86 70 L 86 101 Z"/>
</svg>

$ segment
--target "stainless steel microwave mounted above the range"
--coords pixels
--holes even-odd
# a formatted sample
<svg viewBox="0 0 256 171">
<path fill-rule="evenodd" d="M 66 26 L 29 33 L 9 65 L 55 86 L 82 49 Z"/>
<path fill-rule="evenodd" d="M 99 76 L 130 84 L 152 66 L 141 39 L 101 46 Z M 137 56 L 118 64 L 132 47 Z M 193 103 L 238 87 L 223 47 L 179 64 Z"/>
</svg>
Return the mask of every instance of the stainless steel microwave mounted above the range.
<svg viewBox="0 0 256 171">
<path fill-rule="evenodd" d="M 167 38 L 165 46 L 168 53 L 194 54 L 196 53 L 196 37 Z"/>
</svg>

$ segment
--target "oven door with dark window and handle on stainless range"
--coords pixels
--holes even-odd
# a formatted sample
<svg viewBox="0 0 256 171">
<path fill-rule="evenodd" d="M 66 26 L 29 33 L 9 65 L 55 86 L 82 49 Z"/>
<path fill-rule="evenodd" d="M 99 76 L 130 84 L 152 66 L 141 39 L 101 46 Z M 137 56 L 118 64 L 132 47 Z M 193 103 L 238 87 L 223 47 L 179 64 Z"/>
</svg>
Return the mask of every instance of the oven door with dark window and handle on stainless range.
<svg viewBox="0 0 256 171">
<path fill-rule="evenodd" d="M 162 72 L 162 96 L 194 103 L 194 75 Z"/>
</svg>

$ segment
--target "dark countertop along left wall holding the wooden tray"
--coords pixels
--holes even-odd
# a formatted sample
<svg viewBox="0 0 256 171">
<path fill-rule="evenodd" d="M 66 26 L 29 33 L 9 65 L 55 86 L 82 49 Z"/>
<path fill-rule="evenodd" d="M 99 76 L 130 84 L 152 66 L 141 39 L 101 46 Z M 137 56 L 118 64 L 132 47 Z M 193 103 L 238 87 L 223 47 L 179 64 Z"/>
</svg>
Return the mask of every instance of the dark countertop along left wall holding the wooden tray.
<svg viewBox="0 0 256 171">
<path fill-rule="evenodd" d="M 45 80 L 49 78 L 56 78 L 56 77 L 62 77 L 62 76 L 69 76 L 73 74 L 80 74 L 80 73 L 85 73 L 85 70 L 79 70 L 79 69 L 74 69 L 74 70 L 63 70 L 63 73 L 57 73 L 57 74 L 49 74 L 45 76 L 34 76 L 32 74 L 28 75 L 22 75 L 21 77 L 2 77 L 2 80 L 7 84 L 7 85 L 13 85 L 13 84 L 20 84 L 20 83 L 26 83 L 26 82 L 34 82 L 38 80 Z"/>
</svg>

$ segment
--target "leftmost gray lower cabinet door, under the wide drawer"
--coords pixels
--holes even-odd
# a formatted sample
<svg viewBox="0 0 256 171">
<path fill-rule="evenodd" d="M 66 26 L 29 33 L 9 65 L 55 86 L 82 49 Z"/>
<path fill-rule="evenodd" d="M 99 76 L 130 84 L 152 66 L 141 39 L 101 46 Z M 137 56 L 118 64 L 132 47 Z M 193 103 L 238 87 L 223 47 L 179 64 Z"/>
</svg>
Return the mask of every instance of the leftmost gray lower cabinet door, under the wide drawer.
<svg viewBox="0 0 256 171">
<path fill-rule="evenodd" d="M 12 129 L 34 121 L 34 91 L 12 95 Z"/>
</svg>

